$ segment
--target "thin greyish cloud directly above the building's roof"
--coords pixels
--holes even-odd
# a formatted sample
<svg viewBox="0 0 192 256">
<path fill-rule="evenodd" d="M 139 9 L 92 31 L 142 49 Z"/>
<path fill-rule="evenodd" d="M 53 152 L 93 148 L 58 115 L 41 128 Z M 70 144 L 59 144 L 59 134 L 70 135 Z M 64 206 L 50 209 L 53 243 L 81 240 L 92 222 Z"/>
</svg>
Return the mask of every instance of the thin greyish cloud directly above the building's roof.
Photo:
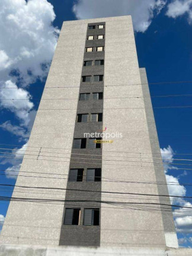
<svg viewBox="0 0 192 256">
<path fill-rule="evenodd" d="M 145 32 L 165 3 L 165 0 L 78 0 L 73 12 L 78 19 L 132 15 L 135 31 Z"/>
</svg>

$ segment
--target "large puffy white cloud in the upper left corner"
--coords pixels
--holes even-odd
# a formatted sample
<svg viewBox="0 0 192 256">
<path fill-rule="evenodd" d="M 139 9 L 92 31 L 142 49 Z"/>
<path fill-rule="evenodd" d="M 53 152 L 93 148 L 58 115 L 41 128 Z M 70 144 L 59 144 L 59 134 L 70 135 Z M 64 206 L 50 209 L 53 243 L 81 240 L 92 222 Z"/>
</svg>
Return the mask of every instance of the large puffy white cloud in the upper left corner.
<svg viewBox="0 0 192 256">
<path fill-rule="evenodd" d="M 23 84 L 47 75 L 59 30 L 53 27 L 53 6 L 47 0 L 1 0 L 0 77 L 16 70 Z M 42 64 L 44 67 L 42 66 Z M 17 81 L 17 76 L 12 77 Z"/>
</svg>

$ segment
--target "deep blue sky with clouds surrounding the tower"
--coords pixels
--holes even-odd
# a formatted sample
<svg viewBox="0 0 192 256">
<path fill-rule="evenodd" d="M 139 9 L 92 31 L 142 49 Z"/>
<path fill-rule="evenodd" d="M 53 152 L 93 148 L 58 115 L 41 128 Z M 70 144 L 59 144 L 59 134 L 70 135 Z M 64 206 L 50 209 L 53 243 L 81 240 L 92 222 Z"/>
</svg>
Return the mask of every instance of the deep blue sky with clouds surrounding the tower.
<svg viewBox="0 0 192 256">
<path fill-rule="evenodd" d="M 77 18 L 95 18 L 131 14 L 135 28 L 137 55 L 140 68 L 145 67 L 149 83 L 192 81 L 192 0 L 3 0 L 0 14 L 0 150 L 18 150 L 27 142 L 30 129 L 46 82 L 47 72 L 56 47 L 63 21 Z M 109 5 L 110 2 L 110 5 Z M 22 15 L 21 15 L 22 14 Z M 26 15 L 23 15 L 26 14 Z M 191 16 L 190 16 L 191 15 Z M 33 18 L 33 23 L 30 21 Z M 19 22 L 18 22 L 19 21 Z M 38 28 L 38 30 L 37 30 Z M 27 31 L 31 31 L 28 34 Z M 18 36 L 18 34 L 20 36 Z M 43 65 L 42 65 L 43 63 Z M 192 95 L 191 83 L 149 85 L 151 96 Z M 6 100 L 23 98 L 21 101 Z M 177 153 L 191 153 L 192 108 L 155 108 L 192 105 L 192 97 L 152 98 L 156 127 L 162 152 L 169 158 L 181 158 Z M 10 146 L 9 146 L 10 145 Z M 14 146 L 15 145 L 15 146 Z M 18 145 L 18 146 L 17 146 Z M 24 148 L 23 148 L 24 149 Z M 5 151 L 12 152 L 12 151 Z M 24 151 L 19 151 L 23 153 Z M 1 153 L 1 156 L 4 156 Z M 6 155 L 8 156 L 8 155 Z M 0 169 L 17 170 L 20 159 L 1 158 Z M 18 155 L 17 155 L 18 156 Z M 164 155 L 165 156 L 165 155 Z M 190 155 L 182 155 L 191 159 Z M 164 159 L 168 181 L 192 183 L 191 168 L 183 165 L 181 170 L 171 169 L 172 160 Z M 177 161 L 178 162 L 178 161 Z M 180 162 L 188 164 L 188 162 Z M 174 165 L 177 167 L 177 165 Z M 181 168 L 178 165 L 178 168 Z M 1 184 L 15 184 L 15 178 L 1 171 Z M 173 186 L 172 186 L 173 187 Z M 169 188 L 169 193 L 191 196 L 192 188 L 182 185 Z M 11 190 L 1 196 L 11 196 Z M 183 205 L 191 205 L 184 201 Z M 8 202 L 0 202 L 2 226 Z M 192 216 L 192 213 L 191 215 Z M 190 221 L 188 221 L 190 220 Z M 191 247 L 192 219 L 185 216 L 175 221 L 180 245 Z M 1 227 L 0 227 L 1 228 Z"/>
</svg>

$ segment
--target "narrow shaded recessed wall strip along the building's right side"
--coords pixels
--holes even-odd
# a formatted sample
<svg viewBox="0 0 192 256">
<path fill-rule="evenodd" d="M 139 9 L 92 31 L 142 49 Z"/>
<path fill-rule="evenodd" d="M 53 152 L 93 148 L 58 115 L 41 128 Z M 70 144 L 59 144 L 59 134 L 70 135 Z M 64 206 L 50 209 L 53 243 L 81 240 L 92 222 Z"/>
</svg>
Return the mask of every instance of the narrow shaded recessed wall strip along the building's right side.
<svg viewBox="0 0 192 256">
<path fill-rule="evenodd" d="M 156 132 L 155 118 L 153 115 L 153 108 L 152 108 L 148 79 L 146 76 L 145 68 L 140 68 L 140 79 L 142 82 L 143 95 L 145 95 L 143 100 L 145 103 L 145 113 L 146 113 L 146 119 L 148 122 L 149 139 L 151 142 L 152 157 L 153 158 L 161 158 L 159 140 L 158 140 L 158 135 Z M 162 182 L 165 183 L 165 185 L 162 185 L 162 184 L 157 185 L 158 186 L 158 194 L 169 195 L 163 164 L 155 164 L 154 163 L 154 168 L 155 168 L 155 176 L 156 176 L 157 183 L 162 183 Z M 159 197 L 159 199 L 162 199 L 162 198 Z M 167 200 L 164 201 L 164 203 L 170 204 L 169 197 L 167 197 Z M 161 206 L 161 208 L 162 208 L 162 206 Z M 164 206 L 164 208 L 165 208 L 165 206 Z M 171 206 L 167 206 L 167 210 L 171 211 Z M 162 220 L 163 220 L 165 232 L 175 232 L 173 216 L 167 215 L 165 213 L 165 209 L 164 210 L 162 209 Z"/>
</svg>

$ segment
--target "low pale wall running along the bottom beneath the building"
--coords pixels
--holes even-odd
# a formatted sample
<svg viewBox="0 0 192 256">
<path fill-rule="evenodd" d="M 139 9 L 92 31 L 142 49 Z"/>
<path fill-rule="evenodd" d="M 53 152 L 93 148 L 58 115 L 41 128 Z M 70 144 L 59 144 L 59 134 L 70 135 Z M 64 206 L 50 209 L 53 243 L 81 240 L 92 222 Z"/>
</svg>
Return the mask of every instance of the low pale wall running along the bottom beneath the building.
<svg viewBox="0 0 192 256">
<path fill-rule="evenodd" d="M 126 248 L 126 247 L 41 247 L 0 245 L 0 256 L 191 256 L 188 248 Z"/>
</svg>

